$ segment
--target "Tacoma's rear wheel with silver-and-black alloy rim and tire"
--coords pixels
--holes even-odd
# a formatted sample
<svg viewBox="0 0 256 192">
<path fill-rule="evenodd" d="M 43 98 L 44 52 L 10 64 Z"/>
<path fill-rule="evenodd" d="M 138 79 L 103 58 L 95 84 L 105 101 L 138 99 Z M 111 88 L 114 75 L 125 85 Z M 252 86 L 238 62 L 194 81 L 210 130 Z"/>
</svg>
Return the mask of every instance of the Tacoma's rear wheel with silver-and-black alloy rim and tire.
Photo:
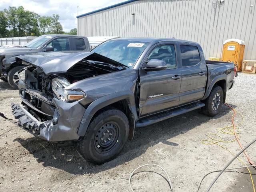
<svg viewBox="0 0 256 192">
<path fill-rule="evenodd" d="M 204 103 L 205 106 L 202 108 L 202 112 L 210 117 L 216 116 L 223 104 L 222 88 L 220 86 L 214 87 Z"/>
</svg>

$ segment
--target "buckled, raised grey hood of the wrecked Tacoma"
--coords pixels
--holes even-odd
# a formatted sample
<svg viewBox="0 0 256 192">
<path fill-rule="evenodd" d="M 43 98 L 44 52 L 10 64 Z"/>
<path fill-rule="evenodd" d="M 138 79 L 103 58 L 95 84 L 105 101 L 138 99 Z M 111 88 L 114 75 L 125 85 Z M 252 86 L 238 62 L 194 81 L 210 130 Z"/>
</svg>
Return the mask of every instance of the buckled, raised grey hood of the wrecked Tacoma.
<svg viewBox="0 0 256 192">
<path fill-rule="evenodd" d="M 116 67 L 125 67 L 126 65 L 114 61 L 94 52 L 64 53 L 64 52 L 41 52 L 36 54 L 20 55 L 16 58 L 24 60 L 32 65 L 42 68 L 45 74 L 65 73 L 72 66 L 81 60 L 92 60 L 112 64 Z M 92 63 L 93 65 L 93 63 Z"/>
</svg>

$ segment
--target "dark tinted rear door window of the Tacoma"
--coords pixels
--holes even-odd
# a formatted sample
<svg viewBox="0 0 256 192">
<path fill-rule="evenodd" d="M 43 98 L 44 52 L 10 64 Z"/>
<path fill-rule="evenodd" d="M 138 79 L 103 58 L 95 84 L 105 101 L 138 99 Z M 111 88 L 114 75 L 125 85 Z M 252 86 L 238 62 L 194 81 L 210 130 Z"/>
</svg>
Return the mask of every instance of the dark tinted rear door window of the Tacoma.
<svg viewBox="0 0 256 192">
<path fill-rule="evenodd" d="M 199 50 L 196 46 L 180 45 L 182 66 L 194 66 L 200 62 Z"/>
</svg>

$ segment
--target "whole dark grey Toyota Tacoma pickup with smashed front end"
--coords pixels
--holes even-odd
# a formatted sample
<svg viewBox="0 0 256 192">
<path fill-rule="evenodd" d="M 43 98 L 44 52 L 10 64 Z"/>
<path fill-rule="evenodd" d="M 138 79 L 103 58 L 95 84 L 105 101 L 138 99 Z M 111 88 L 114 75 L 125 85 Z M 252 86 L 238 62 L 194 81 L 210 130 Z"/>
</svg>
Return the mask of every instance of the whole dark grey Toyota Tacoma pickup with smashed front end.
<svg viewBox="0 0 256 192">
<path fill-rule="evenodd" d="M 234 63 L 206 61 L 178 39 L 120 38 L 90 52 L 18 56 L 18 125 L 48 141 L 77 141 L 82 156 L 111 160 L 136 127 L 202 108 L 215 116 L 234 85 Z"/>
</svg>

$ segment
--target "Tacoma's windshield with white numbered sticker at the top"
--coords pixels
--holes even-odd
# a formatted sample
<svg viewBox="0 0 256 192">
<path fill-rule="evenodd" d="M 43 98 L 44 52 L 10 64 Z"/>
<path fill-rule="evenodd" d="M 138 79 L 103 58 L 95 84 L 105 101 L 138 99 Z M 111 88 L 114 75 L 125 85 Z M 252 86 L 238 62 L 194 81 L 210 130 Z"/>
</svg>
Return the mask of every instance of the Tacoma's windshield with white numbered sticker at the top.
<svg viewBox="0 0 256 192">
<path fill-rule="evenodd" d="M 91 52 L 98 53 L 132 68 L 147 45 L 148 42 L 110 40 L 98 45 Z"/>
</svg>

